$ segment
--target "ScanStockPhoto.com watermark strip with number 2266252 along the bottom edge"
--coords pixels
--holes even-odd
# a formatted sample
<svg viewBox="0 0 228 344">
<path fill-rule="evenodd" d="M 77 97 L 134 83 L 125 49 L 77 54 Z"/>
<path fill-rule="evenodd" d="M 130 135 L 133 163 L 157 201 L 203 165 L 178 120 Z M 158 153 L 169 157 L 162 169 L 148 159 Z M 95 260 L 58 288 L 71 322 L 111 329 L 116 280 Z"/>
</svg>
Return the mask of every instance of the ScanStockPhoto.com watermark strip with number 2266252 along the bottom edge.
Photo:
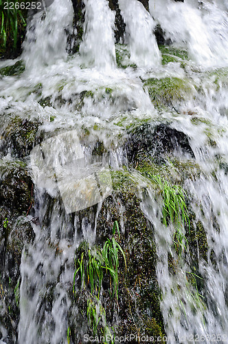
<svg viewBox="0 0 228 344">
<path fill-rule="evenodd" d="M 227 343 L 226 334 L 190 334 L 189 336 L 148 336 L 125 334 L 124 336 L 89 336 L 84 334 L 84 343 Z"/>
</svg>

